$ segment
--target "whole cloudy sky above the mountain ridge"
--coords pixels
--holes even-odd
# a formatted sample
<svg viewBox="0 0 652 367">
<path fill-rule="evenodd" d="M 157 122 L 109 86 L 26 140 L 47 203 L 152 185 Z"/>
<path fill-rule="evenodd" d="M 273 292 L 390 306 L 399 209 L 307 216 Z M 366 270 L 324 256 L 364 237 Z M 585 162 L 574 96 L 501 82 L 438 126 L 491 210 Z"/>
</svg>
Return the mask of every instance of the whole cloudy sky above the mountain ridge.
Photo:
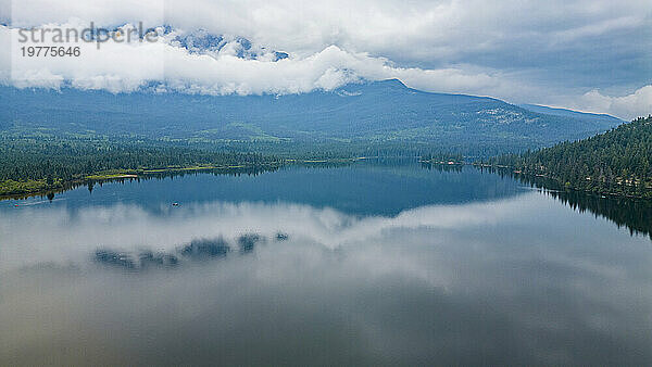
<svg viewBox="0 0 652 367">
<path fill-rule="evenodd" d="M 21 28 L 158 27 L 155 42 L 27 58 Z M 212 94 L 399 78 L 630 119 L 652 113 L 652 2 L 0 0 L 0 83 Z M 55 45 L 61 46 L 61 45 Z M 287 58 L 279 59 L 279 53 Z"/>
</svg>

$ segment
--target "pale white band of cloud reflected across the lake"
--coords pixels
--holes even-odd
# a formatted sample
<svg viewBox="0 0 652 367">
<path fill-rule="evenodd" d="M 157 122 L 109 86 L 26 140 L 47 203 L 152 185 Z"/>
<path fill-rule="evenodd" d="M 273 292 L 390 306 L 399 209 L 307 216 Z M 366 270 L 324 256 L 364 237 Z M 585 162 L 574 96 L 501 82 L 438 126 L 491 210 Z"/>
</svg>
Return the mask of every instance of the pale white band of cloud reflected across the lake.
<svg viewBox="0 0 652 367">
<path fill-rule="evenodd" d="M 408 228 L 461 228 L 510 217 L 518 202 L 423 206 L 393 217 L 355 216 L 310 205 L 213 202 L 164 208 L 163 215 L 138 205 L 116 204 L 70 211 L 65 206 L 0 212 L 7 243 L 0 269 L 34 262 L 79 262 L 97 248 L 115 251 L 173 252 L 199 238 L 224 237 L 240 241 L 247 232 L 266 238 L 289 233 L 302 241 L 335 249 L 351 242 Z M 86 254 L 86 255 L 85 255 Z"/>
</svg>

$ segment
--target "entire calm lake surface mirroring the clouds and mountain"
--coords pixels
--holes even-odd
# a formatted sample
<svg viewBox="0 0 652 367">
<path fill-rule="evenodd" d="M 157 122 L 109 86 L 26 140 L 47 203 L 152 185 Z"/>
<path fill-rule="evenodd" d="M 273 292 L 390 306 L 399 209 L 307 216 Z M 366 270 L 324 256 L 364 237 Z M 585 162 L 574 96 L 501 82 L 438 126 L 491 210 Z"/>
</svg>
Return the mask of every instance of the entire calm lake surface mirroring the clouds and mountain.
<svg viewBox="0 0 652 367">
<path fill-rule="evenodd" d="M 387 162 L 2 201 L 0 365 L 651 365 L 650 222 Z"/>
</svg>

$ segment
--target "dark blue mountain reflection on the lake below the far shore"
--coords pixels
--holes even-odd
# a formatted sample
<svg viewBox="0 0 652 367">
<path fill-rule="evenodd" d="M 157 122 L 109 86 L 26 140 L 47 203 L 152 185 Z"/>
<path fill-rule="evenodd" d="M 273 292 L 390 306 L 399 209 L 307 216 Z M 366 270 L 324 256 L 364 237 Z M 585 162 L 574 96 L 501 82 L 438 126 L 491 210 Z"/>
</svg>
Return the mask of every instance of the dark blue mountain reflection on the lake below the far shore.
<svg viewBox="0 0 652 367">
<path fill-rule="evenodd" d="M 80 188 L 50 199 L 53 199 L 54 205 L 72 208 L 124 203 L 159 213 L 171 203 L 223 200 L 283 201 L 328 206 L 359 215 L 396 215 L 411 207 L 488 201 L 523 192 L 521 185 L 509 177 L 482 174 L 472 167 L 456 172 L 428 172 L 415 160 L 411 163 L 365 161 L 339 168 L 322 166 L 290 166 L 274 173 L 239 176 L 197 173 L 170 176 L 166 173 L 151 180 L 130 178 L 98 182 L 92 191 Z M 0 201 L 0 210 L 37 202 L 48 201 L 45 198 Z"/>
</svg>

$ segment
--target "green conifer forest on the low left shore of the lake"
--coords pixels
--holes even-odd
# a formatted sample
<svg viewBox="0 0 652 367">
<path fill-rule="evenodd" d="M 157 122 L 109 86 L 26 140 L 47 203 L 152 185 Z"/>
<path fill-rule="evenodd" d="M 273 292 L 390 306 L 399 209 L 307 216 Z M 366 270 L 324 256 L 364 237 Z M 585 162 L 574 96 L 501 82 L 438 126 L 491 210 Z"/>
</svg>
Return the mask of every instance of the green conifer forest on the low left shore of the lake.
<svg viewBox="0 0 652 367">
<path fill-rule="evenodd" d="M 277 166 L 259 153 L 215 152 L 129 140 L 0 137 L 0 195 L 60 189 L 75 180 L 143 170 Z"/>
</svg>

